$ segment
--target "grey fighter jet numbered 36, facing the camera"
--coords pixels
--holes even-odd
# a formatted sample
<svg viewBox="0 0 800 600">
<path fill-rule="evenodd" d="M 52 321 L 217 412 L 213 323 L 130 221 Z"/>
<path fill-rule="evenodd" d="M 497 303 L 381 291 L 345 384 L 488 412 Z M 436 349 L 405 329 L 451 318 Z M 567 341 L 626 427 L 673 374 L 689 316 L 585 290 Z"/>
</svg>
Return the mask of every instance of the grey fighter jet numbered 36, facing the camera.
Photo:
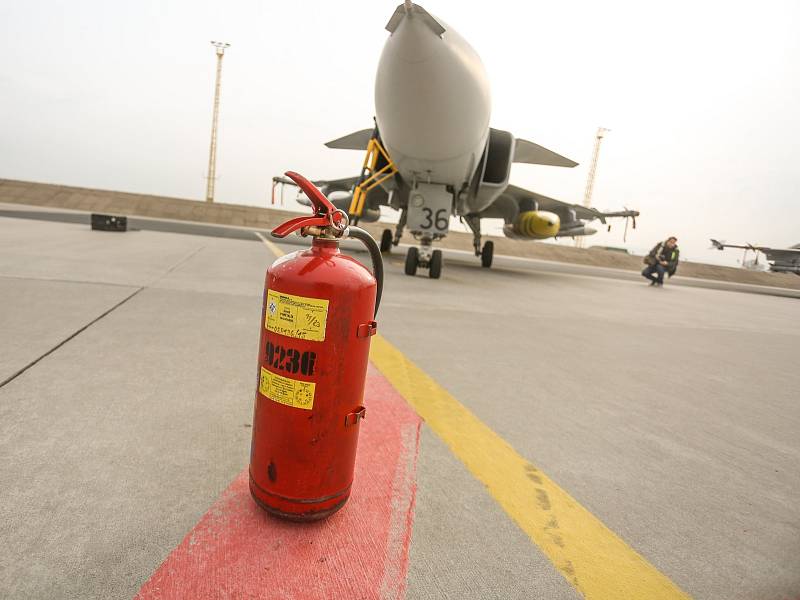
<svg viewBox="0 0 800 600">
<path fill-rule="evenodd" d="M 452 27 L 406 0 L 386 29 L 375 78 L 375 125 L 325 144 L 366 150 L 358 177 L 315 181 L 351 221 L 377 221 L 380 207 L 400 211 L 394 235 L 383 231 L 381 249 L 397 245 L 407 229 L 419 242 L 408 249 L 405 272 L 418 267 L 432 278 L 442 252 L 432 248 L 462 219 L 473 233 L 475 255 L 490 267 L 494 245 L 481 246 L 481 220 L 502 218 L 507 237 L 542 240 L 596 232 L 587 222 L 634 219 L 637 211 L 600 212 L 509 184 L 513 163 L 574 167 L 578 163 L 538 144 L 489 126 L 489 80 L 475 50 Z"/>
</svg>

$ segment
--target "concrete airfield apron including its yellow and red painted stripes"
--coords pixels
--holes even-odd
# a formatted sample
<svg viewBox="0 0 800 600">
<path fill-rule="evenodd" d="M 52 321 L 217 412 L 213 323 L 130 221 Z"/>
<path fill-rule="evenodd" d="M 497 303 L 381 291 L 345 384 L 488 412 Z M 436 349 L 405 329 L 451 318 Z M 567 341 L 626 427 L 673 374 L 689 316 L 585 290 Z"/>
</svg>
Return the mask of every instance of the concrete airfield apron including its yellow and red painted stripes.
<svg viewBox="0 0 800 600">
<path fill-rule="evenodd" d="M 317 579 L 265 597 L 800 596 L 797 299 L 389 257 L 361 494 L 278 531 L 237 482 L 264 271 L 297 246 L 241 237 L 0 218 L 0 596 L 237 597 L 270 556 Z"/>
</svg>

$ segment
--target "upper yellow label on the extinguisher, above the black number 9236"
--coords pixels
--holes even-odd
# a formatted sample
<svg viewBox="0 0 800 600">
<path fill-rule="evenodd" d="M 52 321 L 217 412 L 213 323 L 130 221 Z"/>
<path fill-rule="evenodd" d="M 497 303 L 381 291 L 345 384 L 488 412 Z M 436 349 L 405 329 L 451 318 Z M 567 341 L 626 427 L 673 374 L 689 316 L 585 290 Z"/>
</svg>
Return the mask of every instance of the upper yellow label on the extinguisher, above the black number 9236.
<svg viewBox="0 0 800 600">
<path fill-rule="evenodd" d="M 267 330 L 297 338 L 321 342 L 328 322 L 328 301 L 267 290 Z"/>
</svg>

